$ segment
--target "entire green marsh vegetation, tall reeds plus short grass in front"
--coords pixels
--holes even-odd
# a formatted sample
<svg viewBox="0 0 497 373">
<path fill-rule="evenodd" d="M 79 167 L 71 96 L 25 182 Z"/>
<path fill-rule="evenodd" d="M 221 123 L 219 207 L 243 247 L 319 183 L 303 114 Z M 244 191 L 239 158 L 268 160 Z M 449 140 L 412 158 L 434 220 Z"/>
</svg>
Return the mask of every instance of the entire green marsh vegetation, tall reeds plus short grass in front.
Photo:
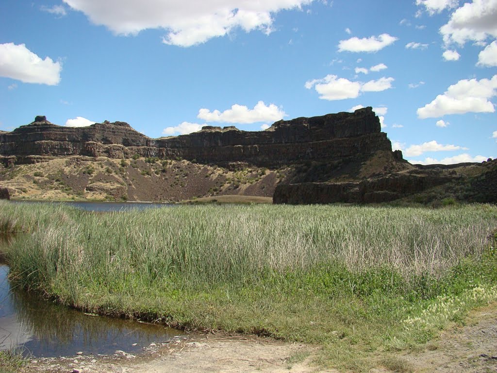
<svg viewBox="0 0 497 373">
<path fill-rule="evenodd" d="M 496 227 L 490 205 L 0 203 L 1 230 L 30 232 L 8 253 L 25 288 L 90 312 L 318 344 L 316 364 L 360 372 L 497 299 Z"/>
</svg>

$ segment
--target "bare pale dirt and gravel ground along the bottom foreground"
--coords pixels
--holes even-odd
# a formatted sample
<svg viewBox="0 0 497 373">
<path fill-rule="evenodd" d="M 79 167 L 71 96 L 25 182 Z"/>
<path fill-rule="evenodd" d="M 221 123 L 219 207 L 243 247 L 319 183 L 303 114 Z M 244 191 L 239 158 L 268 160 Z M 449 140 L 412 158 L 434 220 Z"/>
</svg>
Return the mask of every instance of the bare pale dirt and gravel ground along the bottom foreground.
<svg viewBox="0 0 497 373">
<path fill-rule="evenodd" d="M 303 344 L 256 337 L 211 336 L 151 345 L 141 356 L 117 352 L 112 357 L 33 359 L 24 372 L 337 372 L 313 366 L 312 357 L 317 353 L 318 347 Z M 423 348 L 399 353 L 393 358 L 404 363 L 402 368 L 378 366 L 371 373 L 497 372 L 497 303 L 472 312 L 465 326 L 452 326 Z M 381 361 L 381 357 L 378 360 Z"/>
</svg>

